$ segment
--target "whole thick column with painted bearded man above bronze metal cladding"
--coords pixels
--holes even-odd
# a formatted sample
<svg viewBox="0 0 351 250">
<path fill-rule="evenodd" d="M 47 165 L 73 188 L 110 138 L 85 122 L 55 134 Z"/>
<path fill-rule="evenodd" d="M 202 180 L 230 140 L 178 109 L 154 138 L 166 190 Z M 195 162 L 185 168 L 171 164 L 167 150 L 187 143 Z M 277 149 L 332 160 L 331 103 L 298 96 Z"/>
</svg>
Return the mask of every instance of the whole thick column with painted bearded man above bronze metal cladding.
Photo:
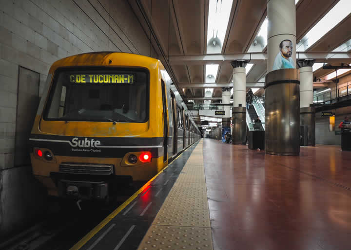
<svg viewBox="0 0 351 250">
<path fill-rule="evenodd" d="M 265 150 L 300 153 L 300 73 L 296 69 L 295 0 L 267 0 Z"/>
</svg>

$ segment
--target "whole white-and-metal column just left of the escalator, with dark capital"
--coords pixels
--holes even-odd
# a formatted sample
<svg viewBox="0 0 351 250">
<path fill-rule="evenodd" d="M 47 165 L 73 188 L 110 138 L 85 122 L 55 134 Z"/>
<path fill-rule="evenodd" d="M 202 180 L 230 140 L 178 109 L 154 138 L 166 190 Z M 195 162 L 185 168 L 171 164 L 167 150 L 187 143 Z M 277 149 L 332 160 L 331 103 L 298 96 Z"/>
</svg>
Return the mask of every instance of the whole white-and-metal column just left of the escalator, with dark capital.
<svg viewBox="0 0 351 250">
<path fill-rule="evenodd" d="M 246 61 L 237 60 L 233 66 L 233 144 L 246 143 Z"/>
</svg>

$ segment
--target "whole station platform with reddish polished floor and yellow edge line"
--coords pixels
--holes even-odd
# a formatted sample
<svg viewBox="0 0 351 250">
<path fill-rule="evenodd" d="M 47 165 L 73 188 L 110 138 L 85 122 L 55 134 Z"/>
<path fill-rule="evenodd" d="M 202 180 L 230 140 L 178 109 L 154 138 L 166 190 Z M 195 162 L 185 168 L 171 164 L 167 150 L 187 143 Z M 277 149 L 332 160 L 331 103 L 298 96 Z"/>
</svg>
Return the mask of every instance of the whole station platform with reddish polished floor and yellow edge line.
<svg viewBox="0 0 351 250">
<path fill-rule="evenodd" d="M 84 250 L 351 249 L 351 153 L 202 139 L 83 237 Z"/>
</svg>

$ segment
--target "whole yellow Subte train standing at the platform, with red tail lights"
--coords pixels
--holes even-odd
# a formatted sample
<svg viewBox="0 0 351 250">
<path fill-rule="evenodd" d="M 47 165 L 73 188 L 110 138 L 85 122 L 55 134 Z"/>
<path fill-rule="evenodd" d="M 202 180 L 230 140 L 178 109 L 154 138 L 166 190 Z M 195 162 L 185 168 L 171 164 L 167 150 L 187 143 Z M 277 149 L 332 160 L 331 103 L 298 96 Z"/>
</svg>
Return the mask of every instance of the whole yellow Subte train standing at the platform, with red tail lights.
<svg viewBox="0 0 351 250">
<path fill-rule="evenodd" d="M 51 66 L 29 144 L 49 195 L 102 199 L 114 183 L 151 179 L 199 139 L 159 60 L 97 52 Z"/>
</svg>

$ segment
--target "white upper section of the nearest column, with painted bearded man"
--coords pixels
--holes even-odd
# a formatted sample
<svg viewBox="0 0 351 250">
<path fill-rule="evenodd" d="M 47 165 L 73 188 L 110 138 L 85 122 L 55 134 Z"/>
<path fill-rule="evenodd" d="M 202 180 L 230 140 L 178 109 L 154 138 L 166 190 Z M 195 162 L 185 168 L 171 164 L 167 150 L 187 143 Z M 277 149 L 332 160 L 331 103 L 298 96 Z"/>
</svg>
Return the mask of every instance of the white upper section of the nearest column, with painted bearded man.
<svg viewBox="0 0 351 250">
<path fill-rule="evenodd" d="M 267 70 L 268 72 L 296 68 L 296 6 L 295 0 L 267 0 L 268 16 L 268 45 Z M 290 40 L 284 41 L 284 40 Z M 284 42 L 283 42 L 284 41 Z M 283 50 L 279 45 L 284 44 Z M 289 46 L 290 48 L 287 48 Z M 291 55 L 290 52 L 291 51 Z M 281 57 L 284 56 L 284 57 Z M 278 58 L 277 58 L 278 57 Z M 276 63 L 275 60 L 285 63 Z M 278 67 L 277 67 L 278 66 Z"/>
</svg>

